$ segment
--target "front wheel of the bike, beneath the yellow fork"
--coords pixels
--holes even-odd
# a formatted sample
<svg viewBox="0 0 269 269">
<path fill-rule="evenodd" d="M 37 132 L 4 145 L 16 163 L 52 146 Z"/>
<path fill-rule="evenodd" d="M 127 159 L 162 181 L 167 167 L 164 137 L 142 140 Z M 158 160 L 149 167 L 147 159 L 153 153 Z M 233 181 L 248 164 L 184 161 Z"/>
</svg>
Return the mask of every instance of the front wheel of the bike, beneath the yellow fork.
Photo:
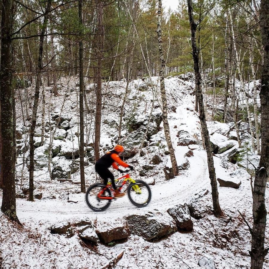
<svg viewBox="0 0 269 269">
<path fill-rule="evenodd" d="M 127 190 L 128 198 L 136 207 L 145 207 L 151 200 L 151 190 L 149 185 L 142 180 L 131 183 Z"/>
</svg>

